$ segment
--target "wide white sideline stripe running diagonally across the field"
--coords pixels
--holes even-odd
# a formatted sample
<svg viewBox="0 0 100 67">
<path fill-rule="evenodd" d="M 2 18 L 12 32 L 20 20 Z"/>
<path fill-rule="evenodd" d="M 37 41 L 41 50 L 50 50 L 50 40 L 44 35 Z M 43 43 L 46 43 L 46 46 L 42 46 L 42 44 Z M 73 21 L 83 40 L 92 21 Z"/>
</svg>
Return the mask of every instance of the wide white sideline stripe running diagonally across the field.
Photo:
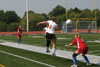
<svg viewBox="0 0 100 67">
<path fill-rule="evenodd" d="M 46 48 L 44 48 L 44 47 L 18 44 L 18 43 L 13 43 L 13 42 L 3 42 L 0 44 L 5 45 L 5 46 L 14 47 L 14 48 L 20 48 L 20 49 L 24 49 L 24 50 L 28 50 L 28 51 L 34 51 L 34 52 L 38 52 L 38 53 L 47 54 L 45 52 Z M 48 53 L 48 54 L 51 55 L 51 53 Z M 71 51 L 56 50 L 56 56 L 58 56 L 58 57 L 72 59 L 72 54 L 73 54 L 73 52 L 71 52 Z M 100 56 L 95 56 L 95 55 L 87 55 L 87 56 L 91 63 L 100 65 Z M 77 59 L 79 61 L 85 62 L 81 55 L 79 55 L 77 57 Z"/>
</svg>

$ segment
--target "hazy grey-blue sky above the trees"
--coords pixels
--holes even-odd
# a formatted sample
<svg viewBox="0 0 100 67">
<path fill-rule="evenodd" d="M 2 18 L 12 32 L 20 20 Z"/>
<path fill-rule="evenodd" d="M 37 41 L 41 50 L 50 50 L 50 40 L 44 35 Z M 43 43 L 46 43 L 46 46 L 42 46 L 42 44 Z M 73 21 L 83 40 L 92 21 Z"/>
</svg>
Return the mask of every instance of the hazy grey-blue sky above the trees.
<svg viewBox="0 0 100 67">
<path fill-rule="evenodd" d="M 89 8 L 94 9 L 94 0 L 69 0 L 69 8 L 79 6 L 80 9 Z M 16 13 L 23 17 L 25 13 L 26 0 L 0 0 L 0 10 L 14 10 Z M 97 0 L 97 8 L 100 9 L 100 0 Z M 49 13 L 57 5 L 66 7 L 66 0 L 29 0 L 29 10 L 36 13 Z"/>
</svg>

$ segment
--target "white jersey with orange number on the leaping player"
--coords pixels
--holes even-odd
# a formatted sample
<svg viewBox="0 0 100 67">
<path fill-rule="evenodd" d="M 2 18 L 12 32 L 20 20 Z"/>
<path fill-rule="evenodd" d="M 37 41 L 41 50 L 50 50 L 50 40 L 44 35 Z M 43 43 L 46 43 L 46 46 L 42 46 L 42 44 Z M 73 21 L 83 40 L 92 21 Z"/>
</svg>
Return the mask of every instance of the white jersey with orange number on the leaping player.
<svg viewBox="0 0 100 67">
<path fill-rule="evenodd" d="M 50 33 L 50 34 L 55 34 L 55 29 L 58 28 L 58 25 L 52 20 L 49 20 L 47 22 L 49 24 L 47 32 Z"/>
</svg>

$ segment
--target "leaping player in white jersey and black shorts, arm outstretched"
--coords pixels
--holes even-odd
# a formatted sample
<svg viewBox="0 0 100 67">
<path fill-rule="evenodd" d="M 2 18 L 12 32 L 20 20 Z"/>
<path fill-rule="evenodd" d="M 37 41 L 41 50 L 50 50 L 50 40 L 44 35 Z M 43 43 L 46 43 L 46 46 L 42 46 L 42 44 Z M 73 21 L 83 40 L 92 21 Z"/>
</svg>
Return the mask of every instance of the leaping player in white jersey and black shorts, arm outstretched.
<svg viewBox="0 0 100 67">
<path fill-rule="evenodd" d="M 58 28 L 58 25 L 56 24 L 56 18 L 54 16 L 50 17 L 51 20 L 49 21 L 42 21 L 38 22 L 37 26 L 40 24 L 49 24 L 49 28 L 47 30 L 47 39 L 52 40 L 53 46 L 52 46 L 52 55 L 55 55 L 56 52 L 56 36 L 55 36 L 55 30 Z"/>
</svg>

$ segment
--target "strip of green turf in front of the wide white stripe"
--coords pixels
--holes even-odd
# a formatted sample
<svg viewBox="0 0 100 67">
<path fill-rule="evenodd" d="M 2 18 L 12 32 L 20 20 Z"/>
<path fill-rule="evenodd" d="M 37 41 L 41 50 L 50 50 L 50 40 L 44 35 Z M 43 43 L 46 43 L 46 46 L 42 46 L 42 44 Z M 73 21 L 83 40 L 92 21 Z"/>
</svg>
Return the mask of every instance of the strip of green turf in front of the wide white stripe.
<svg viewBox="0 0 100 67">
<path fill-rule="evenodd" d="M 16 54 L 19 56 L 23 56 L 26 58 L 30 58 L 33 60 L 37 60 L 40 62 L 44 62 L 56 67 L 70 67 L 73 64 L 73 61 L 69 59 L 54 57 L 51 55 L 45 55 L 41 53 L 26 51 L 26 50 L 2 46 L 2 45 L 0 45 L 0 50 L 8 53 Z M 14 56 L 10 56 L 1 52 L 0 52 L 0 64 L 6 67 L 47 67 Z M 79 61 L 78 61 L 78 65 L 80 67 L 99 67 L 98 65 L 94 65 L 94 64 L 92 64 L 91 66 L 87 66 L 86 63 L 79 62 Z"/>
</svg>

